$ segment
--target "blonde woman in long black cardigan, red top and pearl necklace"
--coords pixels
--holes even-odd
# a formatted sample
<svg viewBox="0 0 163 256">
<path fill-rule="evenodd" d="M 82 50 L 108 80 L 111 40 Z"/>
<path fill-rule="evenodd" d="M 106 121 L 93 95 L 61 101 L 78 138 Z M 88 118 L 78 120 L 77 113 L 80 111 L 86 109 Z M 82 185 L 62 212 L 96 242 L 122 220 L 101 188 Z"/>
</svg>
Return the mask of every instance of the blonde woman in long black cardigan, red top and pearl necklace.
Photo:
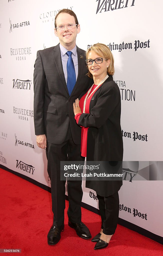
<svg viewBox="0 0 163 256">
<path fill-rule="evenodd" d="M 86 52 L 88 76 L 94 84 L 73 104 L 75 119 L 82 127 L 81 155 L 87 161 L 122 161 L 123 141 L 120 126 L 121 97 L 113 81 L 114 58 L 104 44 L 94 44 Z M 96 191 L 102 219 L 100 232 L 92 239 L 94 249 L 102 249 L 115 233 L 119 215 L 118 190 L 122 181 L 86 181 Z"/>
</svg>

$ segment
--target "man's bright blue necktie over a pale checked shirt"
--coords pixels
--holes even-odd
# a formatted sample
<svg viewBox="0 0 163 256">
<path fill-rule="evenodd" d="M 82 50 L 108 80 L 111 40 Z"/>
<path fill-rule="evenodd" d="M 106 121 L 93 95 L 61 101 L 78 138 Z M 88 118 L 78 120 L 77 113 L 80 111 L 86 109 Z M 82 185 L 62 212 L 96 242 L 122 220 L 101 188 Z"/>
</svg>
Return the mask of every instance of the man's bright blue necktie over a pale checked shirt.
<svg viewBox="0 0 163 256">
<path fill-rule="evenodd" d="M 67 51 L 66 54 L 68 55 L 68 61 L 67 61 L 67 89 L 69 92 L 69 95 L 71 95 L 71 92 L 74 88 L 74 85 L 76 83 L 76 74 L 75 74 L 75 68 L 74 63 L 72 60 L 72 51 Z"/>
</svg>

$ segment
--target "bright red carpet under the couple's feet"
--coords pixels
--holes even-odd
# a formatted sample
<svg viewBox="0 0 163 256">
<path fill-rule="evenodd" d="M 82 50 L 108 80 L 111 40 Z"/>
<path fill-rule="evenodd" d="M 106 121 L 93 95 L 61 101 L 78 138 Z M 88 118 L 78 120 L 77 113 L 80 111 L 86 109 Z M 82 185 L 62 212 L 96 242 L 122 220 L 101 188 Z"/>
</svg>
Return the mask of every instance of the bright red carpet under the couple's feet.
<svg viewBox="0 0 163 256">
<path fill-rule="evenodd" d="M 66 201 L 65 231 L 55 246 L 47 244 L 47 233 L 52 225 L 51 194 L 17 175 L 0 169 L 1 212 L 0 248 L 21 249 L 12 255 L 163 255 L 163 246 L 149 238 L 118 225 L 109 246 L 95 251 L 91 240 L 84 240 L 68 225 Z M 100 217 L 82 208 L 82 221 L 92 237 L 100 230 Z M 5 253 L 2 255 L 11 255 Z"/>
</svg>

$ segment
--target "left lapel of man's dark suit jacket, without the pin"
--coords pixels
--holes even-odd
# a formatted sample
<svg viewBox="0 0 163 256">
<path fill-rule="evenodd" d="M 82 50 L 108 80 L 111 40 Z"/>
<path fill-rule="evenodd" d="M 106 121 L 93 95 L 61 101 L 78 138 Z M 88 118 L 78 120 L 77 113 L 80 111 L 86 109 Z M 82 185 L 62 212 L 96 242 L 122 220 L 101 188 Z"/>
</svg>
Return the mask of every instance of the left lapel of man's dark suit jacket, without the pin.
<svg viewBox="0 0 163 256">
<path fill-rule="evenodd" d="M 63 71 L 63 66 L 62 66 L 62 60 L 61 60 L 61 53 L 60 53 L 60 47 L 59 44 L 56 45 L 53 49 L 53 57 L 54 57 L 54 61 L 56 63 L 56 67 L 58 70 L 58 74 L 60 76 L 60 79 L 68 93 L 68 89 L 67 89 L 67 84 L 66 84 L 66 80 L 65 80 L 65 75 L 64 75 L 64 71 Z M 68 93 L 69 95 L 69 93 Z"/>
</svg>

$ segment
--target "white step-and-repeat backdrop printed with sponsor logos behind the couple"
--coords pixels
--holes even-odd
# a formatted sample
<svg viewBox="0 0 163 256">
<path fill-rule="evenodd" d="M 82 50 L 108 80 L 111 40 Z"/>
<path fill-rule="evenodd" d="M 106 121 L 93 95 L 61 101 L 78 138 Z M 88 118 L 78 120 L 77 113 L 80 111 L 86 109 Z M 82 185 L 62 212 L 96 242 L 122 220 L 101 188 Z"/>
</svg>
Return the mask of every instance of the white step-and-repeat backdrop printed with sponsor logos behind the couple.
<svg viewBox="0 0 163 256">
<path fill-rule="evenodd" d="M 133 161 L 124 166 L 119 217 L 163 237 L 163 183 L 133 175 L 163 158 L 162 1 L 1 0 L 0 5 L 0 164 L 50 186 L 45 150 L 34 134 L 33 70 L 37 50 L 58 44 L 55 15 L 72 9 L 81 26 L 78 47 L 102 42 L 115 58 L 123 160 Z M 82 201 L 98 208 L 95 191 L 84 182 L 83 191 Z"/>
</svg>

